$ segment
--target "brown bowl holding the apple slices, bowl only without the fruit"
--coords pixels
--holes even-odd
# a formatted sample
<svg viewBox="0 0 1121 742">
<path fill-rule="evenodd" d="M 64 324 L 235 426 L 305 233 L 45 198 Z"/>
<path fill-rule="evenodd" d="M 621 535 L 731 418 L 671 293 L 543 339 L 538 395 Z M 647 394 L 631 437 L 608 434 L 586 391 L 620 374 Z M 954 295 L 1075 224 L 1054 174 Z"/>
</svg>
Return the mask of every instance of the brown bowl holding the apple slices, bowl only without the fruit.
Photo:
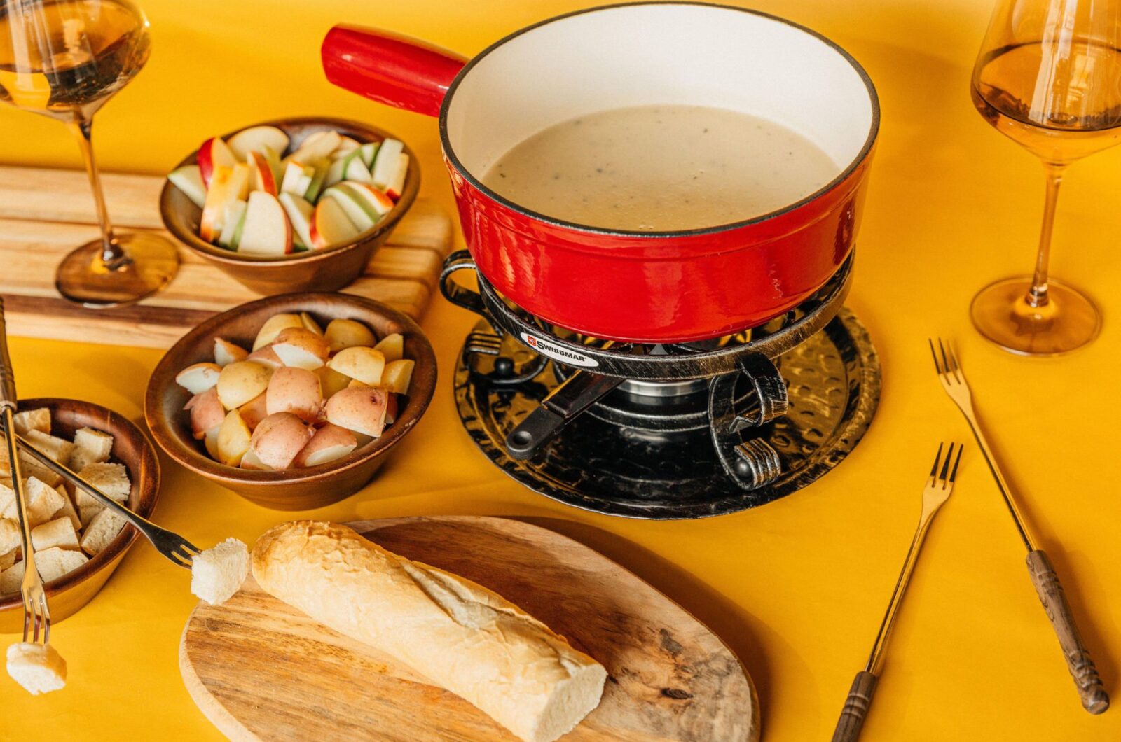
<svg viewBox="0 0 1121 742">
<path fill-rule="evenodd" d="M 289 151 L 298 147 L 299 142 L 309 135 L 326 129 L 334 129 L 339 133 L 363 143 L 397 138 L 381 129 L 343 119 L 279 119 L 250 126 L 270 126 L 282 129 L 293 142 L 289 145 Z M 222 138 L 229 139 L 241 129 L 248 128 L 241 127 Z M 392 211 L 369 230 L 359 234 L 352 242 L 325 250 L 308 250 L 307 252 L 293 252 L 277 257 L 247 256 L 211 244 L 198 236 L 202 210 L 170 182 L 164 184 L 164 191 L 159 194 L 159 213 L 164 220 L 164 226 L 179 242 L 187 245 L 203 260 L 217 266 L 240 284 L 258 294 L 271 296 L 290 291 L 334 291 L 353 282 L 362 275 L 362 270 L 370 262 L 370 256 L 386 242 L 390 232 L 393 231 L 393 228 L 397 226 L 405 212 L 416 200 L 417 191 L 420 188 L 420 166 L 417 163 L 416 154 L 408 148 L 408 145 L 405 146 L 405 151 L 409 156 L 409 169 L 405 176 L 405 193 L 401 194 Z M 175 167 L 194 165 L 197 155 L 198 150 L 191 152 Z"/>
</svg>

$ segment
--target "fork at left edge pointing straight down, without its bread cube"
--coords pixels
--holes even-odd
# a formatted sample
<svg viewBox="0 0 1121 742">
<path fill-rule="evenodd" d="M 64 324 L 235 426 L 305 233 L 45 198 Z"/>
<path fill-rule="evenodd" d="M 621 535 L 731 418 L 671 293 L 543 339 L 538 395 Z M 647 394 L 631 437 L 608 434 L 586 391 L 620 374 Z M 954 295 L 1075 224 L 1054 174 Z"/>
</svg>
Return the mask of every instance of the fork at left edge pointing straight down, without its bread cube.
<svg viewBox="0 0 1121 742">
<path fill-rule="evenodd" d="M 11 368 L 11 356 L 8 354 L 8 330 L 3 318 L 3 298 L 0 298 L 0 410 L 6 430 L 16 429 L 16 374 Z M 39 642 L 43 646 L 50 640 L 50 607 L 47 605 L 47 592 L 43 588 L 43 578 L 35 566 L 35 550 L 31 548 L 31 521 L 27 507 L 27 493 L 24 491 L 22 471 L 16 449 L 16 437 L 4 436 L 8 446 L 8 469 L 11 472 L 11 489 L 16 492 L 16 519 L 19 521 L 20 547 L 24 550 L 24 578 L 19 592 L 24 599 L 24 641 Z M 30 638 L 30 639 L 29 639 Z"/>
</svg>

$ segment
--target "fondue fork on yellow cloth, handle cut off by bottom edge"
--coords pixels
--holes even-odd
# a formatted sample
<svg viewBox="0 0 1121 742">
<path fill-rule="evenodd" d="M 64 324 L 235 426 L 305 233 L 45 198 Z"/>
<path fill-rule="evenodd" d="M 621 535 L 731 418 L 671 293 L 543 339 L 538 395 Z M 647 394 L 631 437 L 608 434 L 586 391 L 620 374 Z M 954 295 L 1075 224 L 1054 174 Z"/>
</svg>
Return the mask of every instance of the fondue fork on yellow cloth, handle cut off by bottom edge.
<svg viewBox="0 0 1121 742">
<path fill-rule="evenodd" d="M 954 480 L 957 479 L 957 464 L 962 461 L 963 446 L 957 445 L 957 457 L 954 458 L 955 444 L 949 444 L 949 451 L 946 452 L 946 458 L 943 461 L 943 445 L 938 444 L 938 453 L 934 457 L 930 476 L 923 488 L 923 511 L 919 514 L 918 527 L 915 529 L 910 548 L 907 549 L 907 558 L 904 559 L 904 568 L 896 581 L 891 600 L 888 602 L 888 610 L 883 614 L 883 621 L 880 622 L 880 630 L 876 634 L 872 653 L 868 658 L 868 665 L 856 674 L 856 678 L 852 681 L 849 697 L 845 698 L 844 707 L 841 709 L 841 718 L 837 720 L 836 729 L 833 731 L 833 742 L 855 742 L 860 738 L 860 730 L 864 726 L 864 718 L 872 705 L 872 695 L 876 693 L 876 684 L 879 681 L 880 670 L 883 666 L 883 650 L 896 622 L 904 593 L 907 592 L 907 585 L 910 583 L 911 573 L 918 563 L 923 541 L 926 540 L 926 534 L 934 521 L 934 516 L 949 499 L 949 494 L 954 490 Z M 951 461 L 953 461 L 953 465 L 951 465 Z"/>
</svg>

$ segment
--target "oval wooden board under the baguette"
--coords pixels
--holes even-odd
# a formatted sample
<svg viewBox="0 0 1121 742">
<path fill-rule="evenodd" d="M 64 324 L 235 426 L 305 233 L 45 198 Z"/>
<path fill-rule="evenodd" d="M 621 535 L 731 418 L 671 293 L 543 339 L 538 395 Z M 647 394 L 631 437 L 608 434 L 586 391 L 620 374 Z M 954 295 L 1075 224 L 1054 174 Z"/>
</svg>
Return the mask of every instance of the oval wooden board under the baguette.
<svg viewBox="0 0 1121 742">
<path fill-rule="evenodd" d="M 349 523 L 463 575 L 606 667 L 600 706 L 564 742 L 759 739 L 759 704 L 731 650 L 680 606 L 569 538 L 503 518 Z M 184 683 L 231 740 L 508 741 L 474 706 L 263 593 L 200 603 L 179 644 Z"/>
</svg>

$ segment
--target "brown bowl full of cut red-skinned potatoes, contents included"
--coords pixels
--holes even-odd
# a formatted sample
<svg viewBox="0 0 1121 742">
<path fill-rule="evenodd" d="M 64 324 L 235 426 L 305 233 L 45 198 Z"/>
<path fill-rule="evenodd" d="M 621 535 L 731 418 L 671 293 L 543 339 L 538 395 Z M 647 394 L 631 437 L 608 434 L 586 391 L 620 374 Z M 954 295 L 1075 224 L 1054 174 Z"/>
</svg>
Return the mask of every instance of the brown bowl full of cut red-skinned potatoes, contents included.
<svg viewBox="0 0 1121 742">
<path fill-rule="evenodd" d="M 187 469 L 306 510 L 369 482 L 435 388 L 432 345 L 409 317 L 348 294 L 289 294 L 184 335 L 152 371 L 145 418 Z"/>
</svg>

